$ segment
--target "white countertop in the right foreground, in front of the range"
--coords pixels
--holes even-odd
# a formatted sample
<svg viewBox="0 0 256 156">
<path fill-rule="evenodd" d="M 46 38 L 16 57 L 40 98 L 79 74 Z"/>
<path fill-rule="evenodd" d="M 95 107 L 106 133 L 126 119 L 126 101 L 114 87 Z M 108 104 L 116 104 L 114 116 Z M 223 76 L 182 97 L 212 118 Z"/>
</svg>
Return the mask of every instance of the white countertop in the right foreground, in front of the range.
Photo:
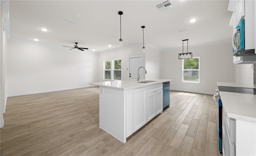
<svg viewBox="0 0 256 156">
<path fill-rule="evenodd" d="M 220 97 L 227 117 L 256 123 L 256 95 L 220 91 Z"/>
</svg>

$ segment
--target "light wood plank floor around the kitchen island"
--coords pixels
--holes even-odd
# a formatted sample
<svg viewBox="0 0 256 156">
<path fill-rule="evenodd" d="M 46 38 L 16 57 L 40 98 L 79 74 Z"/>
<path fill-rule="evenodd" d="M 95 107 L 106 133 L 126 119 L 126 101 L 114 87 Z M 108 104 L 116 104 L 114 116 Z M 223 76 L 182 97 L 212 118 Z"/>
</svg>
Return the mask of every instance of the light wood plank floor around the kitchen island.
<svg viewBox="0 0 256 156">
<path fill-rule="evenodd" d="M 1 156 L 220 156 L 212 95 L 170 96 L 125 144 L 99 128 L 98 87 L 8 97 Z"/>
</svg>

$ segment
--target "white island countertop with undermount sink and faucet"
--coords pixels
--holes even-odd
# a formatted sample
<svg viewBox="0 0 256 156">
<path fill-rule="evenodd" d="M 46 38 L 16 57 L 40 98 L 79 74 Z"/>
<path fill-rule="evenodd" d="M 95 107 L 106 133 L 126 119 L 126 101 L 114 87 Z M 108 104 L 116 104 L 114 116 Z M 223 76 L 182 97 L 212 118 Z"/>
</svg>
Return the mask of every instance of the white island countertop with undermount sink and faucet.
<svg viewBox="0 0 256 156">
<path fill-rule="evenodd" d="M 103 86 L 109 88 L 116 88 L 121 90 L 129 90 L 129 89 L 136 89 L 136 88 L 143 88 L 147 86 L 152 86 L 154 84 L 161 84 L 163 82 L 171 81 L 170 79 L 149 79 L 156 82 L 150 83 L 138 83 L 145 80 L 137 81 L 135 80 L 112 80 L 112 81 L 104 81 L 104 82 L 92 82 L 90 84 L 95 86 Z"/>
</svg>

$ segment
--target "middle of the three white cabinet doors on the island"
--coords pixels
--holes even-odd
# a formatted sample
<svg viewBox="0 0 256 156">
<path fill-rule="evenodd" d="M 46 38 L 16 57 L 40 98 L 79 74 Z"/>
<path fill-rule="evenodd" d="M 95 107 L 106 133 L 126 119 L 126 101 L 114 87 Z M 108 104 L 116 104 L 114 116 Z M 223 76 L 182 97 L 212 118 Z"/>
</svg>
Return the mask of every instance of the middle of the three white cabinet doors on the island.
<svg viewBox="0 0 256 156">
<path fill-rule="evenodd" d="M 155 110 L 155 103 L 156 103 L 156 94 L 151 93 L 147 95 L 147 107 L 146 107 L 146 117 L 147 122 L 153 119 L 156 116 Z"/>
</svg>

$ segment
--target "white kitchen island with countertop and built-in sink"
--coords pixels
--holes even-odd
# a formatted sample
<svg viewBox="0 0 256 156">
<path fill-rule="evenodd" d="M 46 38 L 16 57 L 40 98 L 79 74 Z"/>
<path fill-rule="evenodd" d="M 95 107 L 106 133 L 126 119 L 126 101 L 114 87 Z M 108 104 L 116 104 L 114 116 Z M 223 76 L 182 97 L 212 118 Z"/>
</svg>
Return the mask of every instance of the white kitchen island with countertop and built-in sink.
<svg viewBox="0 0 256 156">
<path fill-rule="evenodd" d="M 100 86 L 100 128 L 125 143 L 126 138 L 163 111 L 162 83 L 167 79 L 114 80 Z"/>
</svg>

